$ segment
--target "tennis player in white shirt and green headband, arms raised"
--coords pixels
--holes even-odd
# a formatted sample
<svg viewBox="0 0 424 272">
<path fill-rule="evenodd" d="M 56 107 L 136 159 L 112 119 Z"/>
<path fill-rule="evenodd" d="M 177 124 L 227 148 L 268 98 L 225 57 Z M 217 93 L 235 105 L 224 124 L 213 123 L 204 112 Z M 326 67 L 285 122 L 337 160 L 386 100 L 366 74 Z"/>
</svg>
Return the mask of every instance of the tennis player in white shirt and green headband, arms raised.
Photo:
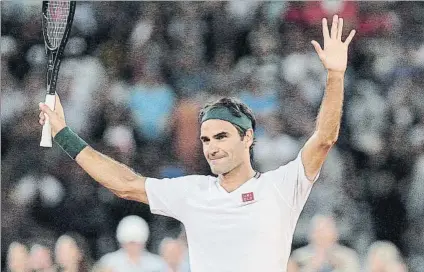
<svg viewBox="0 0 424 272">
<path fill-rule="evenodd" d="M 293 161 L 273 171 L 252 168 L 255 118 L 250 109 L 224 98 L 200 113 L 200 140 L 215 176 L 173 179 L 140 176 L 95 151 L 66 126 L 60 100 L 46 114 L 55 142 L 91 176 L 117 196 L 150 205 L 152 213 L 180 220 L 186 229 L 193 272 L 286 271 L 299 215 L 328 152 L 338 138 L 348 45 L 343 19 L 331 30 L 322 20 L 324 49 L 312 41 L 328 71 L 316 130 Z"/>
</svg>

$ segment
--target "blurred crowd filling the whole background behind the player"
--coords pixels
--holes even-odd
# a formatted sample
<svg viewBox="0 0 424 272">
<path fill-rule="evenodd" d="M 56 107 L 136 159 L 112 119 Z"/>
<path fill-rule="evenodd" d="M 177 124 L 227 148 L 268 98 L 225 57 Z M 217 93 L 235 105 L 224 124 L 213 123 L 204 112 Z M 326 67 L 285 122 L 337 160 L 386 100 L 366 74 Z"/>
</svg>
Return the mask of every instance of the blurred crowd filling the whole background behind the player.
<svg viewBox="0 0 424 272">
<path fill-rule="evenodd" d="M 198 110 L 234 96 L 257 118 L 256 169 L 275 169 L 314 130 L 326 71 L 310 41 L 322 43 L 321 18 L 336 13 L 345 36 L 357 30 L 342 126 L 289 269 L 424 271 L 424 3 L 78 2 L 57 86 L 67 124 L 144 176 L 208 175 Z M 40 3 L 1 2 L 2 268 L 26 271 L 16 260 L 28 258 L 31 270 L 82 271 L 62 255 L 88 267 L 121 252 L 168 269 L 137 271 L 187 271 L 178 221 L 118 199 L 59 147 L 39 147 L 41 31 Z M 129 215 L 144 236 L 125 246 L 117 233 Z"/>
</svg>

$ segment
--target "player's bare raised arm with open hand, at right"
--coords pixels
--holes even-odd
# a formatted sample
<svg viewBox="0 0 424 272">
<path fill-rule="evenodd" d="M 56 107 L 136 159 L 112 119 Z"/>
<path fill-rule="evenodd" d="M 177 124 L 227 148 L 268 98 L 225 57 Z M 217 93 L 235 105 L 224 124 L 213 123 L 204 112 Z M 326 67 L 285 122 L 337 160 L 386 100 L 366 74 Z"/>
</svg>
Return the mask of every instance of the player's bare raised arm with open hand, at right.
<svg viewBox="0 0 424 272">
<path fill-rule="evenodd" d="M 337 141 L 343 107 L 344 74 L 347 66 L 347 49 L 355 30 L 342 42 L 343 19 L 333 17 L 331 35 L 327 19 L 322 20 L 324 50 L 312 41 L 321 62 L 328 71 L 324 98 L 318 113 L 314 134 L 308 139 L 302 150 L 302 163 L 305 174 L 313 182 L 318 175 L 328 152 Z"/>
</svg>

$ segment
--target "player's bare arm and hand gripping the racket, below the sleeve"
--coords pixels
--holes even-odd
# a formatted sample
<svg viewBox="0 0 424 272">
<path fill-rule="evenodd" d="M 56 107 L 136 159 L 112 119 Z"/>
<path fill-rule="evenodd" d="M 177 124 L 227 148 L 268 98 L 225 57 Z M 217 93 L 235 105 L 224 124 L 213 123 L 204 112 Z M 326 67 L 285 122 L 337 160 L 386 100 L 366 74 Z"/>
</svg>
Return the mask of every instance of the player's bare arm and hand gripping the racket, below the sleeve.
<svg viewBox="0 0 424 272">
<path fill-rule="evenodd" d="M 138 175 L 126 165 L 101 154 L 90 146 L 75 144 L 83 141 L 66 128 L 65 115 L 59 96 L 56 95 L 54 111 L 44 103 L 40 103 L 40 110 L 39 123 L 44 125 L 48 118 L 53 137 L 59 132 L 62 136 L 67 133 L 65 135 L 67 140 L 63 141 L 62 148 L 64 145 L 67 145 L 65 149 L 69 149 L 69 146 L 77 146 L 71 148 L 73 152 L 71 152 L 72 154 L 68 152 L 68 155 L 75 159 L 94 180 L 111 190 L 118 197 L 149 204 L 145 189 L 145 177 Z M 59 137 L 55 137 L 55 140 L 57 138 Z M 75 152 L 75 150 L 78 152 Z"/>
</svg>

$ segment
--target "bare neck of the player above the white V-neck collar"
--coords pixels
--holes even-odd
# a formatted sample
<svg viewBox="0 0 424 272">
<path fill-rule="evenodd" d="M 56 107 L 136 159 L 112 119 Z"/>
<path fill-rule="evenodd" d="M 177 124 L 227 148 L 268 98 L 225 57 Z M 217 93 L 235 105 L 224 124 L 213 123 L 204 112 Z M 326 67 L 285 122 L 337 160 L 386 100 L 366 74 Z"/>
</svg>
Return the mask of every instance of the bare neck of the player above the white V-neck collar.
<svg viewBox="0 0 424 272">
<path fill-rule="evenodd" d="M 219 175 L 221 186 L 228 192 L 232 192 L 243 183 L 253 178 L 256 171 L 253 170 L 252 165 L 241 164 L 226 174 Z"/>
</svg>

